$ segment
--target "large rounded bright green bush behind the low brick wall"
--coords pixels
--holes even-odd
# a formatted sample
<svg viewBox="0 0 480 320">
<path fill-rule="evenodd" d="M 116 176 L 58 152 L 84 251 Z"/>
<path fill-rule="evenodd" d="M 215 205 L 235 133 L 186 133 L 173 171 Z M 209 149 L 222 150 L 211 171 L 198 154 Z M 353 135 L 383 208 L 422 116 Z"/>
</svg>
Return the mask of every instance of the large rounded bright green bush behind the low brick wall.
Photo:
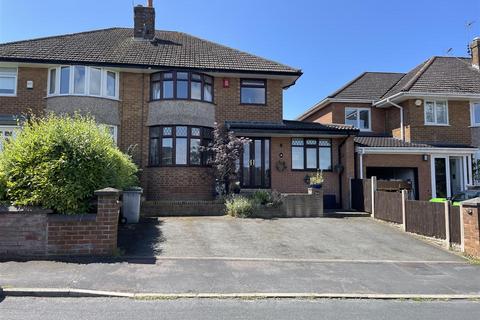
<svg viewBox="0 0 480 320">
<path fill-rule="evenodd" d="M 135 185 L 137 170 L 106 130 L 79 115 L 33 118 L 0 154 L 9 201 L 63 214 L 88 212 L 97 189 Z"/>
</svg>

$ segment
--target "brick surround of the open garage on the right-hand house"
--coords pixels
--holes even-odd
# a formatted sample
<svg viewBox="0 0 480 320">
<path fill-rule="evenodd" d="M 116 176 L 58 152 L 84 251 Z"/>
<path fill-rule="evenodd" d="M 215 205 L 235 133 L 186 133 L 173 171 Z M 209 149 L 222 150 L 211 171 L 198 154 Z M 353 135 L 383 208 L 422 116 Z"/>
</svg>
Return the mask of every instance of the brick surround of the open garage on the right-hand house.
<svg viewBox="0 0 480 320">
<path fill-rule="evenodd" d="M 360 161 L 357 164 L 359 165 Z M 364 154 L 363 176 L 365 178 L 367 167 L 418 168 L 419 199 L 429 200 L 432 197 L 430 160 L 423 161 L 422 155 Z"/>
</svg>

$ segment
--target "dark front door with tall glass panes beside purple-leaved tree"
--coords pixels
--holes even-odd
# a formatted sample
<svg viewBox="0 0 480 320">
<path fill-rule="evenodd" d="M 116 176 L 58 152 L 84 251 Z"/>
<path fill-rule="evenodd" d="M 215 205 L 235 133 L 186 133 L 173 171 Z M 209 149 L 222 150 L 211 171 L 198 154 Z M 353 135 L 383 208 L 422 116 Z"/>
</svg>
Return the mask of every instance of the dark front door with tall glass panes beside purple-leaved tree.
<svg viewBox="0 0 480 320">
<path fill-rule="evenodd" d="M 270 139 L 251 138 L 240 158 L 242 188 L 270 188 Z"/>
</svg>

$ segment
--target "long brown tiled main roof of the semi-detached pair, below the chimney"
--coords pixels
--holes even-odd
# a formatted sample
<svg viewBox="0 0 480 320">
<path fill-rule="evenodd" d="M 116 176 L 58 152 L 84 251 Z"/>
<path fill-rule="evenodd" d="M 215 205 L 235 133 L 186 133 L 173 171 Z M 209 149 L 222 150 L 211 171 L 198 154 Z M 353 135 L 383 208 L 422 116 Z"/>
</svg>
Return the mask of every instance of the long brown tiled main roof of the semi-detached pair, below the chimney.
<svg viewBox="0 0 480 320">
<path fill-rule="evenodd" d="M 110 28 L 0 44 L 0 61 L 301 75 L 299 69 L 182 32 L 156 31 L 152 41 L 135 40 L 131 28 Z"/>
</svg>

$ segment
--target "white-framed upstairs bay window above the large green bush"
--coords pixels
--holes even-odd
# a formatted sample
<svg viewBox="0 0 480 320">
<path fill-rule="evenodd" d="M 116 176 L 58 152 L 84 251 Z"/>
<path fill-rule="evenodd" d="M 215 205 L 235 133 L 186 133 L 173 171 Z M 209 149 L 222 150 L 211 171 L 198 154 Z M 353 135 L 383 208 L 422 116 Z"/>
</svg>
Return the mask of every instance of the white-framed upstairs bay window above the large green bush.
<svg viewBox="0 0 480 320">
<path fill-rule="evenodd" d="M 48 72 L 48 95 L 80 95 L 118 99 L 119 73 L 87 66 L 60 66 Z"/>
</svg>

